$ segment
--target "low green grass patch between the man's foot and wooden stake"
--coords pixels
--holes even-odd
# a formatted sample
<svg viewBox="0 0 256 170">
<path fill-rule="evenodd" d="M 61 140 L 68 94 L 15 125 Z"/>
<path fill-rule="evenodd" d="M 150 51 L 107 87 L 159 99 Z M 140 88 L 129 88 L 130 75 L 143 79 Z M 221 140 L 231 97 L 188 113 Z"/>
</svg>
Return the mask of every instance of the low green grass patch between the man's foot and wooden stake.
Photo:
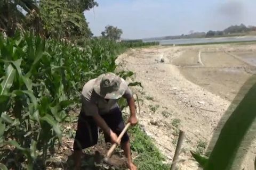
<svg viewBox="0 0 256 170">
<path fill-rule="evenodd" d="M 165 157 L 155 147 L 151 139 L 141 130 L 140 126 L 134 126 L 129 130 L 131 135 L 132 151 L 138 156 L 134 162 L 138 169 L 170 169 L 170 165 L 163 164 Z"/>
</svg>

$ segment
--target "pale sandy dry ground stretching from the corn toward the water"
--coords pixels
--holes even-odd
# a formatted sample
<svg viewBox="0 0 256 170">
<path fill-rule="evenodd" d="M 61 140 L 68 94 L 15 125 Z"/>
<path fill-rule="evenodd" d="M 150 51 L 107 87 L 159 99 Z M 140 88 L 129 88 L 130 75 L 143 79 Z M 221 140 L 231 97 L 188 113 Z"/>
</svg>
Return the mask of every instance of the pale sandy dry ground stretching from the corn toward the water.
<svg viewBox="0 0 256 170">
<path fill-rule="evenodd" d="M 181 129 L 186 138 L 178 166 L 197 169 L 189 151 L 204 150 L 230 101 L 251 74 L 246 71 L 250 65 L 233 61 L 231 55 L 221 62 L 222 54 L 214 60 L 208 53 L 255 49 L 253 45 L 157 46 L 131 49 L 119 56 L 120 67 L 133 71 L 144 87 L 143 91 L 133 89 L 143 100 L 140 124 L 169 162 Z M 164 63 L 159 62 L 161 56 Z"/>
</svg>

